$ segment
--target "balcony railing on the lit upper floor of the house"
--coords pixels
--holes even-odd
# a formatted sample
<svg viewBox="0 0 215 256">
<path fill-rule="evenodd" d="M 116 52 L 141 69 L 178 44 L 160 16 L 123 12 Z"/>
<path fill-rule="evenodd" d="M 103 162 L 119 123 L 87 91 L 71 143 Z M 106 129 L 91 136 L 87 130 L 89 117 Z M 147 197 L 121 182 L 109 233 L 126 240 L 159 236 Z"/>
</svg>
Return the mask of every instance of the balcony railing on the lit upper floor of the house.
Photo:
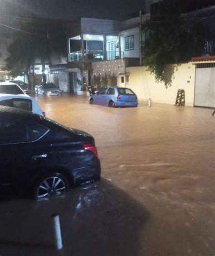
<svg viewBox="0 0 215 256">
<path fill-rule="evenodd" d="M 120 58 L 124 58 L 123 51 L 121 51 L 121 56 L 119 57 L 119 51 L 106 51 L 106 56 L 104 56 L 103 50 L 84 50 L 84 60 L 116 60 Z M 68 54 L 68 61 L 78 61 L 81 59 L 81 51 L 75 51 Z"/>
</svg>

